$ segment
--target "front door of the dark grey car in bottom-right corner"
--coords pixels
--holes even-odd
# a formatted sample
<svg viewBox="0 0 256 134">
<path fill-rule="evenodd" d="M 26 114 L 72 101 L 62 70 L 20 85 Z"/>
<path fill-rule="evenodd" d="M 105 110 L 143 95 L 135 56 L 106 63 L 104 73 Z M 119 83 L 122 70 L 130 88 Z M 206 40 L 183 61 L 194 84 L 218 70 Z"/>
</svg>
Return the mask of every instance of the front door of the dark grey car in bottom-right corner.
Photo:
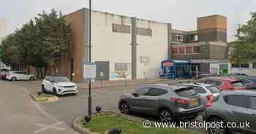
<svg viewBox="0 0 256 134">
<path fill-rule="evenodd" d="M 233 114 L 230 117 L 229 122 L 236 122 L 239 125 L 239 122 L 248 122 L 252 115 L 249 113 L 249 97 L 245 95 L 229 95 L 225 97 L 227 106 Z M 249 128 L 240 127 L 237 128 L 238 131 L 246 133 Z"/>
</svg>

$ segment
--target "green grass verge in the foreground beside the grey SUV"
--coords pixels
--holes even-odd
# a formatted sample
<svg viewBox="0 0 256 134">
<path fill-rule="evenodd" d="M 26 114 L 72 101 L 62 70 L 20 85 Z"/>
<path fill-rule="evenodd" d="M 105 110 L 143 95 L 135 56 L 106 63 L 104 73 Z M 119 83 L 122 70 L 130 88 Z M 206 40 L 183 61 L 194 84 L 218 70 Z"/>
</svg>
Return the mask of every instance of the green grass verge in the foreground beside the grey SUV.
<svg viewBox="0 0 256 134">
<path fill-rule="evenodd" d="M 94 115 L 89 123 L 82 120 L 81 125 L 92 133 L 105 134 L 111 128 L 120 128 L 122 134 L 196 134 L 189 130 L 178 128 L 143 128 L 143 120 L 129 119 L 119 114 L 102 113 Z"/>
</svg>

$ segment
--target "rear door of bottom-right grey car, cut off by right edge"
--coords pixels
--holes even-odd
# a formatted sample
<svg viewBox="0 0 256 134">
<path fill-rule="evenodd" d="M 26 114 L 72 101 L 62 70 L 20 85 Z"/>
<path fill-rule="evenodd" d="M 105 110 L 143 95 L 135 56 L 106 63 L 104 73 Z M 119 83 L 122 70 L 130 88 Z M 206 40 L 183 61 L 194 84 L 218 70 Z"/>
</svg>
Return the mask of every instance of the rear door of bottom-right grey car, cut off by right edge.
<svg viewBox="0 0 256 134">
<path fill-rule="evenodd" d="M 256 96 L 250 96 L 249 120 L 252 133 L 256 133 Z"/>
</svg>

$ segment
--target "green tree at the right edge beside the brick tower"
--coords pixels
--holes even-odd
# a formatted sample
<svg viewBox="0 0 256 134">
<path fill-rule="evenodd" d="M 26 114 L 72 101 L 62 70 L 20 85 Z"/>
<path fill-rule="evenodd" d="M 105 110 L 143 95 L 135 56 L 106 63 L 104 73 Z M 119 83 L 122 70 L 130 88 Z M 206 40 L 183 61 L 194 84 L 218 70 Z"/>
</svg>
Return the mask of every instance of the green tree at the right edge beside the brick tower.
<svg viewBox="0 0 256 134">
<path fill-rule="evenodd" d="M 256 12 L 244 25 L 239 25 L 236 41 L 232 42 L 232 60 L 235 63 L 247 63 L 256 59 Z"/>
</svg>

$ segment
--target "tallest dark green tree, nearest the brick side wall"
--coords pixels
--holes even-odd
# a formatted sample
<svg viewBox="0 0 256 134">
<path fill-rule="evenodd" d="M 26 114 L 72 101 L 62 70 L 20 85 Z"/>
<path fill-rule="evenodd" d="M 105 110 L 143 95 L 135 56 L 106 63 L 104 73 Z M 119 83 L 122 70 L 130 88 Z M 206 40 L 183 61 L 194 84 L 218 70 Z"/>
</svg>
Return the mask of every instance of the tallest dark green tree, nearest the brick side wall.
<svg viewBox="0 0 256 134">
<path fill-rule="evenodd" d="M 42 49 L 40 50 L 42 51 L 40 52 L 53 72 L 53 67 L 59 64 L 61 55 L 70 50 L 72 44 L 71 24 L 67 24 L 61 12 L 58 14 L 54 9 L 50 14 L 42 12 L 35 20 L 41 39 Z"/>
</svg>

